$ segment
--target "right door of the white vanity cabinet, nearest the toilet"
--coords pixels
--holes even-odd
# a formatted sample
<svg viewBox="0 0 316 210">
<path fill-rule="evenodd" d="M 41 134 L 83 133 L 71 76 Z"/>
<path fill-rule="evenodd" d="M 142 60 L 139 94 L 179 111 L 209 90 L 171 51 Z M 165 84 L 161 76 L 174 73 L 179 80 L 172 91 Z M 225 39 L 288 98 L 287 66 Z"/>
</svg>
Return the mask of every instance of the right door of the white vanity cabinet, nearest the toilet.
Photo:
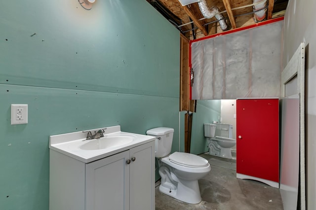
<svg viewBox="0 0 316 210">
<path fill-rule="evenodd" d="M 155 141 L 130 149 L 130 210 L 155 210 Z"/>
</svg>

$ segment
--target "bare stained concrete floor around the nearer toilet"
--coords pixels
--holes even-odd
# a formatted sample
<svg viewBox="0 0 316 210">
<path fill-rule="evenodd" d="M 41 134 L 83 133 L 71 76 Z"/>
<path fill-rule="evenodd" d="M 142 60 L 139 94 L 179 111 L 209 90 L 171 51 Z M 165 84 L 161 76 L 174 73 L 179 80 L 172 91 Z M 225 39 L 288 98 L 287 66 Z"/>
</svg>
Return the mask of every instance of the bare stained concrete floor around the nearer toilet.
<svg viewBox="0 0 316 210">
<path fill-rule="evenodd" d="M 278 188 L 259 181 L 236 177 L 236 160 L 201 154 L 211 171 L 198 180 L 202 201 L 187 204 L 159 192 L 156 182 L 156 210 L 283 210 Z"/>
</svg>

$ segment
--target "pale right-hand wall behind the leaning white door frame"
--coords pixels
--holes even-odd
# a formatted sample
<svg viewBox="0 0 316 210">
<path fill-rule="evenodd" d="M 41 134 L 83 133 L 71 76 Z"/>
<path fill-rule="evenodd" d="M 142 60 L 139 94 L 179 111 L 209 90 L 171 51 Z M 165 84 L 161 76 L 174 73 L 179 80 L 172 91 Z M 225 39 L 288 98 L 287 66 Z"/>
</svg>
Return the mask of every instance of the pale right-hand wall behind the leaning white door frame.
<svg viewBox="0 0 316 210">
<path fill-rule="evenodd" d="M 316 1 L 289 0 L 284 19 L 283 66 L 300 42 L 305 41 L 306 76 L 306 174 L 307 209 L 316 209 Z"/>
</svg>

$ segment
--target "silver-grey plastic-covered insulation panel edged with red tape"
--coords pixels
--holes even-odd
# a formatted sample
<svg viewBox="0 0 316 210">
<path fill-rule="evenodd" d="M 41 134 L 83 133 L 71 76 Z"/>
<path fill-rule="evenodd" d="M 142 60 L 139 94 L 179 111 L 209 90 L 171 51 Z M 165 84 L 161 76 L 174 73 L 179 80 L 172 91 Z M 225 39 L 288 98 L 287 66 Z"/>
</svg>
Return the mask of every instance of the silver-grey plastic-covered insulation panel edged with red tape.
<svg viewBox="0 0 316 210">
<path fill-rule="evenodd" d="M 192 42 L 192 99 L 281 96 L 283 22 Z"/>
</svg>

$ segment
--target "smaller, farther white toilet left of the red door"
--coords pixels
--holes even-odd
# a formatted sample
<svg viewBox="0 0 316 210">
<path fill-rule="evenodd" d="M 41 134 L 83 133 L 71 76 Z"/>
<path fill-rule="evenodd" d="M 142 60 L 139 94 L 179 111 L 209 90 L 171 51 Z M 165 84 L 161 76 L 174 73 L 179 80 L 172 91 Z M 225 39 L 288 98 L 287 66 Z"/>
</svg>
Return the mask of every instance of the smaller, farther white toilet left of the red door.
<svg viewBox="0 0 316 210">
<path fill-rule="evenodd" d="M 229 124 L 204 123 L 204 137 L 207 138 L 209 154 L 232 159 L 231 148 L 236 145 L 232 132 L 233 126 Z"/>
</svg>

